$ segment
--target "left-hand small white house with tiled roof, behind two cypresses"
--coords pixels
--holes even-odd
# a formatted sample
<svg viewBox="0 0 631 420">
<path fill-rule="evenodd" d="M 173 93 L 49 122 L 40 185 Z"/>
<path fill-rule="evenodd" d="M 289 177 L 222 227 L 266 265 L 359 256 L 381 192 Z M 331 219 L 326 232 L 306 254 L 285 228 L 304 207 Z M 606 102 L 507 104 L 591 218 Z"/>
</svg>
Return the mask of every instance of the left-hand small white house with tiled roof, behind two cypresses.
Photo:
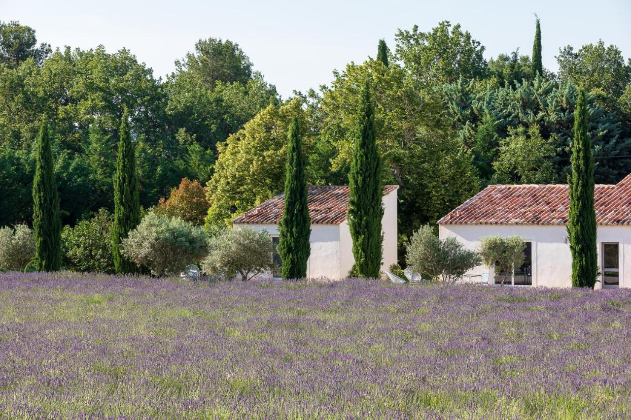
<svg viewBox="0 0 631 420">
<path fill-rule="evenodd" d="M 397 189 L 396 185 L 384 187 L 384 218 L 382 219 L 382 271 L 397 262 Z M 283 216 L 285 194 L 245 212 L 233 220 L 233 225 L 248 225 L 269 232 L 274 244 L 278 244 L 278 222 Z M 353 242 L 346 222 L 346 209 L 350 199 L 348 186 L 308 187 L 307 203 L 311 218 L 311 254 L 307 262 L 307 277 L 327 277 L 332 280 L 348 277 L 355 264 Z M 278 254 L 274 259 L 280 265 Z M 280 272 L 268 273 L 280 277 Z"/>
</svg>

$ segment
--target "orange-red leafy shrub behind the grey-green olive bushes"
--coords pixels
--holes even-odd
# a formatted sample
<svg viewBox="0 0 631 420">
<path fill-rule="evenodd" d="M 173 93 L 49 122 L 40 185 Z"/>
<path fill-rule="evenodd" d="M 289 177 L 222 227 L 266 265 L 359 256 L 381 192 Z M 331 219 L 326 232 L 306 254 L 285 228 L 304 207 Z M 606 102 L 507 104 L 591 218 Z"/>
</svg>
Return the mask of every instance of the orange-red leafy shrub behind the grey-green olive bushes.
<svg viewBox="0 0 631 420">
<path fill-rule="evenodd" d="M 180 218 L 193 225 L 203 225 L 208 207 L 210 205 L 204 187 L 197 181 L 182 178 L 180 186 L 171 191 L 168 200 L 160 199 L 155 212 L 160 216 Z"/>
</svg>

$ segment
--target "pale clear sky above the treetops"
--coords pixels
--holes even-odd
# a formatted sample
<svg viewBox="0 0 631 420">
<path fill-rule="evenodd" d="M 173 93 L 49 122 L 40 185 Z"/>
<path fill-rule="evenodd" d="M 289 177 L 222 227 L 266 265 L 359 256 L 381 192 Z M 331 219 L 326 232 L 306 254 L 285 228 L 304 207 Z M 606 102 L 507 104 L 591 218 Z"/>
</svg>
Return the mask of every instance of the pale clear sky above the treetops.
<svg viewBox="0 0 631 420">
<path fill-rule="evenodd" d="M 487 59 L 519 47 L 531 54 L 534 16 L 541 19 L 543 65 L 557 69 L 559 47 L 602 38 L 631 56 L 631 1 L 28 1 L 0 0 L 0 20 L 18 20 L 55 47 L 109 52 L 127 47 L 156 77 L 199 38 L 228 38 L 283 98 L 329 84 L 333 69 L 376 55 L 379 38 L 394 47 L 398 28 L 428 31 L 461 23 L 487 47 Z"/>
</svg>

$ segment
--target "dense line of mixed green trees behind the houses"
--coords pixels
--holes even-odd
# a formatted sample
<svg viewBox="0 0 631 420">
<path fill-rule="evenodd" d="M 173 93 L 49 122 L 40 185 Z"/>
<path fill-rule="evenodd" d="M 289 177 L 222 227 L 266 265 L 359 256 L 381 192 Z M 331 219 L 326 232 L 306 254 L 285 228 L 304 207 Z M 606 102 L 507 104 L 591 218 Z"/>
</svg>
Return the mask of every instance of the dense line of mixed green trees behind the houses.
<svg viewBox="0 0 631 420">
<path fill-rule="evenodd" d="M 485 47 L 448 21 L 399 30 L 375 59 L 333 72 L 319 90 L 282 100 L 239 45 L 199 40 L 166 79 L 126 49 L 50 50 L 35 31 L 0 24 L 0 226 L 32 224 L 34 141 L 50 126 L 62 223 L 114 210 L 124 110 L 136 149 L 139 202 L 155 206 L 186 177 L 206 186 L 208 226 L 220 226 L 285 185 L 288 132 L 302 132 L 308 184 L 348 184 L 366 81 L 382 184 L 399 185 L 399 231 L 433 223 L 490 183 L 567 182 L 579 87 L 596 182 L 631 171 L 631 59 L 602 40 L 487 61 Z M 542 35 L 543 33 L 543 35 Z M 526 44 L 530 40 L 524 40 Z"/>
</svg>

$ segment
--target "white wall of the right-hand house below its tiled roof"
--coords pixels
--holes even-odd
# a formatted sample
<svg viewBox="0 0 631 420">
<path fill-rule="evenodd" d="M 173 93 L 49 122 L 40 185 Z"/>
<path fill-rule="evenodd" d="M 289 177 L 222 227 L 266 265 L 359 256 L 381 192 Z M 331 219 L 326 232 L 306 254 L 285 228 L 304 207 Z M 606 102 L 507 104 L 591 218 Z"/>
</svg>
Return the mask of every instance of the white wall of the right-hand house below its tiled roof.
<svg viewBox="0 0 631 420">
<path fill-rule="evenodd" d="M 441 239 L 454 236 L 466 248 L 478 249 L 479 240 L 485 236 L 518 235 L 532 242 L 533 249 L 533 286 L 570 287 L 572 286 L 572 255 L 566 243 L 565 226 L 557 225 L 440 225 Z M 618 265 L 620 267 L 620 287 L 631 287 L 631 227 L 598 226 L 598 261 L 601 266 L 603 242 L 617 242 Z M 476 267 L 469 274 L 489 272 L 488 267 Z M 490 276 L 493 278 L 493 276 Z M 492 282 L 491 282 L 492 283 Z M 596 283 L 600 288 L 602 283 Z"/>
</svg>

